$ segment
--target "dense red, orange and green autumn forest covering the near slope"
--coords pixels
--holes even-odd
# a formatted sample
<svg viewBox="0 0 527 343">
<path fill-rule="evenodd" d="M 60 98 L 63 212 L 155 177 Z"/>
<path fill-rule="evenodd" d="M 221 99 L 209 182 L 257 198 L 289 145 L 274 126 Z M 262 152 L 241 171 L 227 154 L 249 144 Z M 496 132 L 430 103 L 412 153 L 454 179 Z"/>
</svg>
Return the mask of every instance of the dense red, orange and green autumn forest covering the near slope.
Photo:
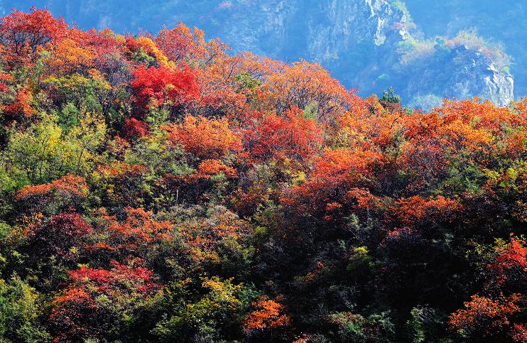
<svg viewBox="0 0 527 343">
<path fill-rule="evenodd" d="M 527 342 L 527 99 L 0 18 L 0 342 Z"/>
</svg>

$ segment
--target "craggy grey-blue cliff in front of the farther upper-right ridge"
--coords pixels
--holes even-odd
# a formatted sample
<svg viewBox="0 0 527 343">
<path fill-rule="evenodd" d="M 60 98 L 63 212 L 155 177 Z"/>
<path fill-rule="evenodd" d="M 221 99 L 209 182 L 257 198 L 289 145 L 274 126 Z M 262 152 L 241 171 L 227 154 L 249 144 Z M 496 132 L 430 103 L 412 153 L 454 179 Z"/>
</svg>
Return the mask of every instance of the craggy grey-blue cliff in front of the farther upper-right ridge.
<svg viewBox="0 0 527 343">
<path fill-rule="evenodd" d="M 30 5 L 21 4 L 25 2 L 29 1 L 0 0 L 0 11 L 26 9 Z M 234 51 L 320 62 L 362 95 L 380 94 L 393 85 L 415 106 L 431 107 L 443 97 L 479 96 L 496 104 L 514 99 L 514 80 L 506 69 L 464 45 L 421 44 L 408 12 L 388 0 L 43 2 L 67 21 L 116 31 L 133 32 L 138 27 L 158 31 L 158 23 L 173 26 L 183 21 L 221 38 Z M 428 47 L 425 53 L 421 45 Z M 421 55 L 408 59 L 412 49 Z"/>
</svg>

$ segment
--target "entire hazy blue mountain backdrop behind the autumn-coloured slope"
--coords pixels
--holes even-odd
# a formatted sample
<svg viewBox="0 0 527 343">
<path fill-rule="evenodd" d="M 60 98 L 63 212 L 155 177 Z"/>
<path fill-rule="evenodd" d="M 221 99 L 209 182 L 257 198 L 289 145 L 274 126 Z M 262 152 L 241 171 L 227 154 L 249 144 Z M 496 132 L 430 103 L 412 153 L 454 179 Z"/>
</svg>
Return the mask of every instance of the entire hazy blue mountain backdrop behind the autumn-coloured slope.
<svg viewBox="0 0 527 343">
<path fill-rule="evenodd" d="M 158 23 L 182 21 L 205 29 L 209 38 L 221 38 L 235 52 L 320 62 L 362 95 L 380 94 L 392 85 L 416 107 L 433 107 L 443 97 L 472 96 L 508 104 L 514 99 L 511 73 L 520 81 L 520 94 L 527 94 L 521 65 L 526 48 L 519 43 L 526 25 L 521 1 L 506 1 L 511 3 L 506 12 L 494 9 L 509 18 L 523 16 L 520 28 L 509 28 L 506 18 L 495 21 L 492 0 L 406 2 L 409 11 L 398 0 L 47 0 L 36 5 L 48 6 L 81 28 L 111 26 L 121 33 L 156 32 Z M 489 9 L 482 9 L 482 2 Z M 0 11 L 27 10 L 32 4 L 0 0 Z M 484 28 L 485 38 L 504 41 L 507 51 L 511 47 L 516 64 L 472 31 L 458 33 L 472 26 Z"/>
</svg>

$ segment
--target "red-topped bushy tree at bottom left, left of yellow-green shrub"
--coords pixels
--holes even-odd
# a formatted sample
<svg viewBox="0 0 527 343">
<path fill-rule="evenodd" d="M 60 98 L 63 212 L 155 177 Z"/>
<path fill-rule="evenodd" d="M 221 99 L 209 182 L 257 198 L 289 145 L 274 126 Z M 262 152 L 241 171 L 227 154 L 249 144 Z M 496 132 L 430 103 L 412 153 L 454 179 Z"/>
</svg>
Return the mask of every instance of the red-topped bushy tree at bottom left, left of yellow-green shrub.
<svg viewBox="0 0 527 343">
<path fill-rule="evenodd" d="M 83 266 L 70 271 L 65 293 L 53 300 L 55 339 L 99 339 L 111 332 L 128 336 L 122 324 L 132 325 L 141 306 L 162 288 L 141 264 L 132 259 L 128 265 L 113 261 L 109 269 Z"/>
</svg>

